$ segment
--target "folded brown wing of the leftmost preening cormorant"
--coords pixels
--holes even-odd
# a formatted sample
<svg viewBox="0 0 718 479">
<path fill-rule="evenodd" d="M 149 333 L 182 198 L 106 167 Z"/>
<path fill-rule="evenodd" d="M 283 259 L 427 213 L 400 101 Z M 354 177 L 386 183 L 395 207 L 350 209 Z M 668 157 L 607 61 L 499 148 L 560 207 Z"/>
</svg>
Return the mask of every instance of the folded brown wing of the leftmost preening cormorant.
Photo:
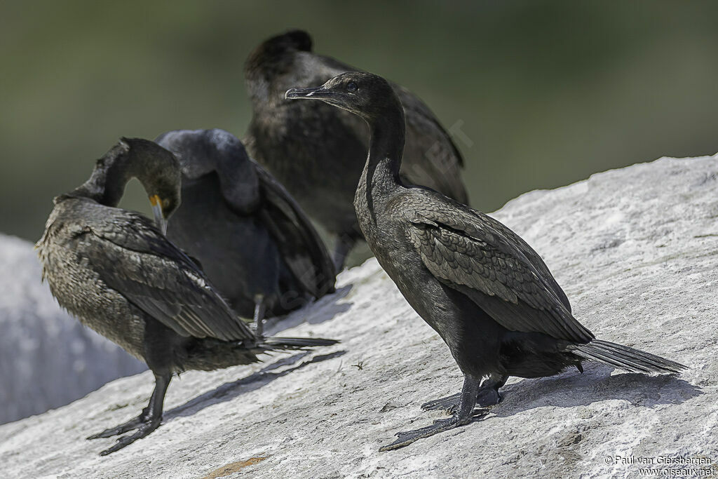
<svg viewBox="0 0 718 479">
<path fill-rule="evenodd" d="M 180 248 L 144 216 L 114 210 L 85 225 L 75 246 L 108 287 L 182 336 L 254 338 Z"/>
</svg>

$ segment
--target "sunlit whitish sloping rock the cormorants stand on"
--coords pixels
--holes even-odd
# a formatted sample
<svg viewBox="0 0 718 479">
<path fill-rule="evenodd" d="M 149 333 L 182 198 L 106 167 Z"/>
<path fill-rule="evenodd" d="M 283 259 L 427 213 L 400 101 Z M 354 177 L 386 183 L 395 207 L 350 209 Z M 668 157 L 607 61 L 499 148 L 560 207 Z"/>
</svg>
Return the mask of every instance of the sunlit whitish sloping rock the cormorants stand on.
<svg viewBox="0 0 718 479">
<path fill-rule="evenodd" d="M 336 294 L 269 326 L 340 345 L 187 372 L 169 386 L 162 427 L 98 457 L 113 440 L 84 437 L 134 417 L 152 388 L 149 373 L 113 381 L 1 426 L 6 477 L 625 478 L 640 475 L 642 458 L 718 475 L 718 158 L 605 172 L 530 192 L 495 216 L 544 255 L 599 338 L 689 371 L 586 363 L 583 374 L 512 378 L 487 419 L 380 453 L 395 432 L 442 417 L 419 405 L 459 391 L 461 377 L 369 260 L 340 276 Z M 656 465 L 660 457 L 711 463 Z"/>
</svg>

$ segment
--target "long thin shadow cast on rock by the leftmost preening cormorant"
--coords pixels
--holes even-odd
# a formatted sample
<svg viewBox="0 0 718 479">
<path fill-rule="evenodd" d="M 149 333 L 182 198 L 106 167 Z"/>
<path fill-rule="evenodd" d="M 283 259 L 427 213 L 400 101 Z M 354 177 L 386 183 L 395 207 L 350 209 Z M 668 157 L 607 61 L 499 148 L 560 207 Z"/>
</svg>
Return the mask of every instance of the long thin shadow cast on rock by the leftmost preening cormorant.
<svg viewBox="0 0 718 479">
<path fill-rule="evenodd" d="M 302 361 L 302 363 L 297 364 L 300 360 L 302 360 L 302 358 L 307 357 L 307 355 L 309 355 L 310 353 L 310 351 L 303 351 L 302 353 L 297 353 L 295 355 L 289 356 L 288 358 L 280 358 L 278 361 L 268 364 L 260 371 L 253 373 L 251 376 L 238 379 L 237 381 L 232 381 L 231 383 L 224 383 L 221 386 L 218 386 L 218 388 L 214 391 L 208 391 L 201 396 L 197 396 L 195 399 L 187 401 L 181 406 L 174 407 L 169 411 L 165 412 L 164 420 L 169 421 L 170 419 L 174 419 L 175 417 L 192 416 L 193 414 L 201 411 L 202 409 L 205 409 L 205 407 L 212 406 L 213 404 L 219 404 L 225 401 L 231 401 L 237 396 L 241 396 L 242 394 L 246 394 L 248 392 L 259 389 L 262 386 L 266 386 L 266 384 L 271 383 L 271 381 L 274 381 L 277 378 L 281 378 L 281 376 L 285 376 L 286 374 L 297 371 L 298 369 L 304 368 L 304 366 L 309 366 L 309 364 L 320 363 L 329 359 L 338 358 L 342 355 L 345 355 L 346 351 L 341 350 L 329 354 L 314 355 L 308 361 Z M 281 368 L 282 366 L 292 365 L 296 366 L 292 368 L 286 368 L 276 373 L 271 372 L 275 369 Z"/>
</svg>

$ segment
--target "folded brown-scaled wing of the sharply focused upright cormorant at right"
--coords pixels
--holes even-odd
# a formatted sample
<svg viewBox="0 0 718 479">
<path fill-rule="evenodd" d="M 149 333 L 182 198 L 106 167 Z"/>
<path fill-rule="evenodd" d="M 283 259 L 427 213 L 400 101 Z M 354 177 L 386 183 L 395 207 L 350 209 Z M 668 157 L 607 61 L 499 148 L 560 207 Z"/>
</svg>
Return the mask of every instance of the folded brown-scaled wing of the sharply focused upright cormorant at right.
<svg viewBox="0 0 718 479">
<path fill-rule="evenodd" d="M 516 233 L 431 190 L 411 188 L 409 195 L 401 208 L 408 212 L 409 239 L 439 281 L 466 294 L 508 330 L 579 343 L 594 338 L 561 302 L 555 291 L 560 287 L 543 261 L 534 264 L 538 254 L 516 241 Z"/>
</svg>

